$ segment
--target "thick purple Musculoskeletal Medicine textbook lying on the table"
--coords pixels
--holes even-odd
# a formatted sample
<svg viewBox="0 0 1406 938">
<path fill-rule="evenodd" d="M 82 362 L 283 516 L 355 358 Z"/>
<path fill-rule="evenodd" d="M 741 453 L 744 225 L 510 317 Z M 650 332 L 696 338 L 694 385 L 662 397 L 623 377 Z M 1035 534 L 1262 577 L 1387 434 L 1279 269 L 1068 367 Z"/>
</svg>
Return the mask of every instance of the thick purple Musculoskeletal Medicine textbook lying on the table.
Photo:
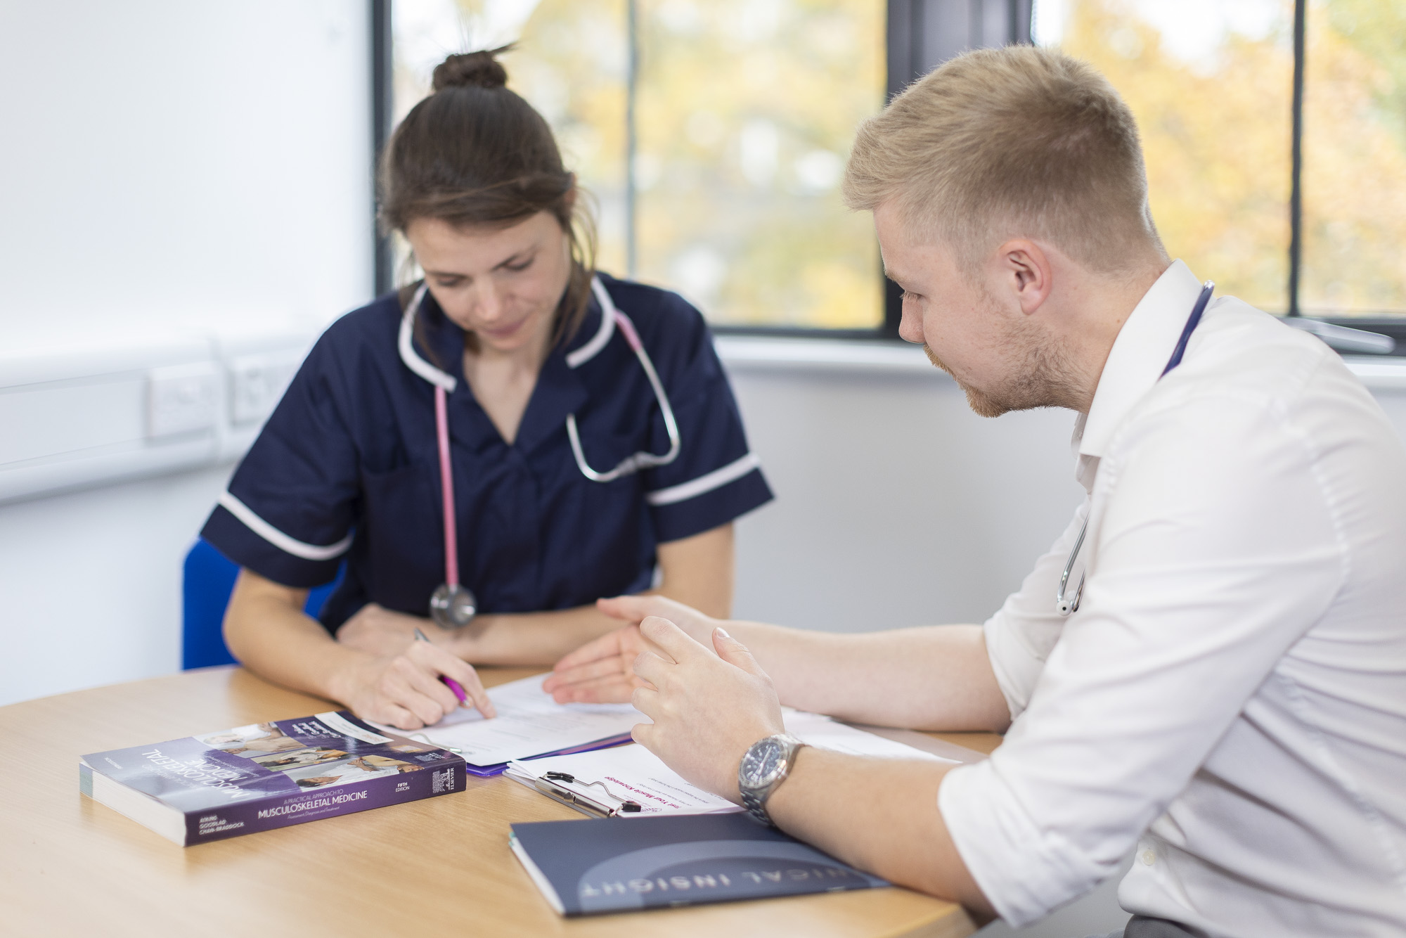
<svg viewBox="0 0 1406 938">
<path fill-rule="evenodd" d="M 181 847 L 464 790 L 464 759 L 347 710 L 91 752 L 79 788 Z"/>
</svg>

